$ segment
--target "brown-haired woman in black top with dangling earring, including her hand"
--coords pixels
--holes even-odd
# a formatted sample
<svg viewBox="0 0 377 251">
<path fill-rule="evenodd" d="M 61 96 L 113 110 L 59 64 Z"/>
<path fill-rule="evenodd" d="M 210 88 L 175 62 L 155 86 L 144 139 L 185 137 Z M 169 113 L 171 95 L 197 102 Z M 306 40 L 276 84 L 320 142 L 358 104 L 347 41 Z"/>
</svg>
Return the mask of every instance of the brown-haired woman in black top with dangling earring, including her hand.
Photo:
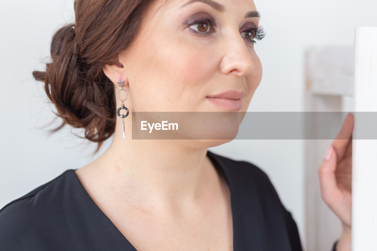
<svg viewBox="0 0 377 251">
<path fill-rule="evenodd" d="M 254 3 L 237 3 L 75 1 L 75 23 L 56 32 L 52 63 L 33 75 L 62 126 L 85 128 L 97 150 L 114 138 L 95 161 L 3 207 L 2 250 L 302 250 L 267 175 L 207 151 L 230 140 L 132 140 L 131 112 L 247 110 L 265 33 Z M 348 115 L 319 168 L 322 197 L 343 222 L 337 251 L 351 242 L 351 141 L 342 138 L 352 127 Z"/>
</svg>

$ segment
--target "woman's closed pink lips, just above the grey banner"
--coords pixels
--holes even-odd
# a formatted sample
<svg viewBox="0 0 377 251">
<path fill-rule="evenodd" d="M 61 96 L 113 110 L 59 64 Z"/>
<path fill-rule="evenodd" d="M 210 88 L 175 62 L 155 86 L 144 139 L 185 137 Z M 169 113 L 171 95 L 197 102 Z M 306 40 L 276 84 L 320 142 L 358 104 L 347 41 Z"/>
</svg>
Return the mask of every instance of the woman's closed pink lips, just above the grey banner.
<svg viewBox="0 0 377 251">
<path fill-rule="evenodd" d="M 242 108 L 241 98 L 245 96 L 245 91 L 242 90 L 227 90 L 225 92 L 218 93 L 216 95 L 210 95 L 206 98 L 215 106 L 220 107 L 225 110 L 239 111 Z"/>
</svg>

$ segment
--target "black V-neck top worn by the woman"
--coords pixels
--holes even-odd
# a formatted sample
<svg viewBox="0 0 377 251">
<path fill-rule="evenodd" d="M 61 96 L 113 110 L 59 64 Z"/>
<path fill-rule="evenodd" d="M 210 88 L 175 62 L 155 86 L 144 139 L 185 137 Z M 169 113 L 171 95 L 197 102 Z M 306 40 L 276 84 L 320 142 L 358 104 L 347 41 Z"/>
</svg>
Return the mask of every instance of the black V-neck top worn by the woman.
<svg viewBox="0 0 377 251">
<path fill-rule="evenodd" d="M 296 223 L 268 176 L 250 162 L 207 155 L 230 189 L 234 251 L 301 251 Z M 0 210 L 0 250 L 136 250 L 94 203 L 75 170 Z"/>
</svg>

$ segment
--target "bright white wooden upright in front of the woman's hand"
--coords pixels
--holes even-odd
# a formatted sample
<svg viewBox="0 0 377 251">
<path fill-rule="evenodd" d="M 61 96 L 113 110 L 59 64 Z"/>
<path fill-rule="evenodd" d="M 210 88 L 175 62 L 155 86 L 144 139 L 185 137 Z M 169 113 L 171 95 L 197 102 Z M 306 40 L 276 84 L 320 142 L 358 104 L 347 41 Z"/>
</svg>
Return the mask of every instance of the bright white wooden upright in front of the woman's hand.
<svg viewBox="0 0 377 251">
<path fill-rule="evenodd" d="M 356 29 L 355 57 L 355 112 L 377 112 L 377 27 Z M 377 250 L 377 140 L 357 139 L 360 124 L 356 118 L 356 140 L 352 141 L 352 250 Z"/>
</svg>

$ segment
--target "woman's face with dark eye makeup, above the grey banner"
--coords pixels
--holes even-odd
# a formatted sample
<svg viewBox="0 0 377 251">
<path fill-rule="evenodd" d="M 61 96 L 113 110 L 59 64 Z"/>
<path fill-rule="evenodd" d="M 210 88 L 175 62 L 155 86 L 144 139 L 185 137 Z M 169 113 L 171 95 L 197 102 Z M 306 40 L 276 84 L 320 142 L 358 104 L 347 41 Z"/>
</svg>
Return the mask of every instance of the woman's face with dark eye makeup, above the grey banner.
<svg viewBox="0 0 377 251">
<path fill-rule="evenodd" d="M 242 108 L 232 111 L 246 112 L 262 78 L 255 33 L 248 32 L 259 18 L 245 18 L 256 11 L 254 2 L 162 2 L 150 6 L 133 44 L 119 55 L 130 112 L 231 111 L 207 98 L 230 89 L 245 92 Z"/>
</svg>

